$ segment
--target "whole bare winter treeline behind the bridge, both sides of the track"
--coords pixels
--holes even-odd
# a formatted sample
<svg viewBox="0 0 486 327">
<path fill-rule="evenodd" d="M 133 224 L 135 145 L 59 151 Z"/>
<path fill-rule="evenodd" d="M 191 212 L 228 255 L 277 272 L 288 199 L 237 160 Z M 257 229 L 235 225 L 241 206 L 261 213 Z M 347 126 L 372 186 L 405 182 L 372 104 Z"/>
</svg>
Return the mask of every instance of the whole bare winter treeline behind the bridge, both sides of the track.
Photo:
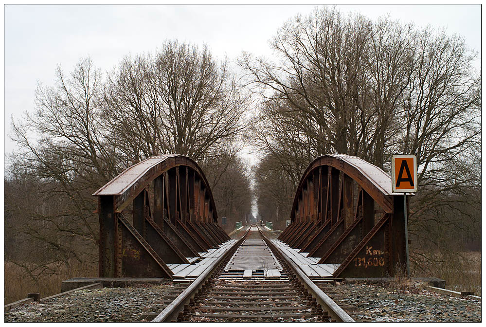
<svg viewBox="0 0 486 327">
<path fill-rule="evenodd" d="M 168 153 L 202 167 L 227 232 L 251 213 L 253 194 L 258 218 L 283 230 L 317 156 L 346 153 L 390 172 L 392 154 L 414 153 L 415 262 L 480 248 L 481 74 L 463 38 L 318 7 L 288 20 L 270 45 L 275 61 L 240 56 L 241 78 L 206 47 L 178 41 L 104 74 L 89 58 L 70 73 L 58 68 L 54 85 L 39 84 L 35 111 L 13 124 L 5 259 L 33 278 L 96 266 L 91 194 Z M 239 154 L 245 142 L 261 156 L 254 167 Z"/>
</svg>

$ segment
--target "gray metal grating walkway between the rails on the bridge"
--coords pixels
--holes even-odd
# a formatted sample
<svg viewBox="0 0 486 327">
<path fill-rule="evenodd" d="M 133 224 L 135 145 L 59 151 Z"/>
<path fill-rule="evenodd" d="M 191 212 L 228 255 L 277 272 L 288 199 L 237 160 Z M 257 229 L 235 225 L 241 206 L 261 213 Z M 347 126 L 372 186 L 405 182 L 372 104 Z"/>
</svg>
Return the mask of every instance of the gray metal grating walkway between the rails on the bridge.
<svg viewBox="0 0 486 327">
<path fill-rule="evenodd" d="M 246 239 L 233 254 L 225 271 L 270 270 L 281 271 L 282 267 L 262 239 Z"/>
</svg>

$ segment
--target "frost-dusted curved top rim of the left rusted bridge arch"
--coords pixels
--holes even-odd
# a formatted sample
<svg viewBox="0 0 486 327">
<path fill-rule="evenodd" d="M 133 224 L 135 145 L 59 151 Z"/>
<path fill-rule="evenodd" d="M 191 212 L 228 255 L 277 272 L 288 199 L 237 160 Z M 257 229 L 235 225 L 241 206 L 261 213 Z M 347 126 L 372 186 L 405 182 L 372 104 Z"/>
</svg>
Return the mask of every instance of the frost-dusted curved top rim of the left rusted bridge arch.
<svg viewBox="0 0 486 327">
<path fill-rule="evenodd" d="M 119 213 L 135 199 L 140 192 L 153 182 L 164 172 L 176 166 L 187 166 L 198 173 L 198 178 L 204 181 L 207 190 L 209 182 L 202 172 L 199 165 L 189 157 L 180 154 L 166 154 L 154 156 L 126 168 L 117 177 L 105 184 L 99 190 L 94 192 L 94 196 L 113 195 L 115 196 L 115 212 Z M 211 209 L 213 211 L 213 220 L 217 222 L 216 206 L 214 205 L 213 193 L 208 192 Z"/>
</svg>

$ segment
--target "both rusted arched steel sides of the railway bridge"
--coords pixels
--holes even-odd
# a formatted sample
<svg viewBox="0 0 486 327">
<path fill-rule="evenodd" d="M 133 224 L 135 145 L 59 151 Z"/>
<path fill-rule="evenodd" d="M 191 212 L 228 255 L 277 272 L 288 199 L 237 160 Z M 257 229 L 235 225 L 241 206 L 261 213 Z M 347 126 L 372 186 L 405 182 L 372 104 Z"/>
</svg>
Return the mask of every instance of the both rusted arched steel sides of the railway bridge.
<svg viewBox="0 0 486 327">
<path fill-rule="evenodd" d="M 204 173 L 185 156 L 148 158 L 94 195 L 100 277 L 177 277 L 230 239 Z M 309 277 L 394 276 L 406 263 L 403 197 L 392 194 L 389 175 L 360 158 L 310 163 L 290 220 L 278 246 Z"/>
</svg>

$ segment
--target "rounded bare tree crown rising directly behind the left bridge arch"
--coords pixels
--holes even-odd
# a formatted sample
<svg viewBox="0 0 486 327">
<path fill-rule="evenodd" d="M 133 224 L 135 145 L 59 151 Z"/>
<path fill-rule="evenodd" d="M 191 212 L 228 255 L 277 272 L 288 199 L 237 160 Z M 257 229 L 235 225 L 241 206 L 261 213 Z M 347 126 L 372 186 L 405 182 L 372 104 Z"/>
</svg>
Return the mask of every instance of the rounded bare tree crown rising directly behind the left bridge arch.
<svg viewBox="0 0 486 327">
<path fill-rule="evenodd" d="M 204 160 L 247 126 L 249 100 L 226 61 L 171 41 L 153 56 L 126 57 L 108 78 L 103 108 L 111 139 L 136 160 L 162 153 Z"/>
</svg>

